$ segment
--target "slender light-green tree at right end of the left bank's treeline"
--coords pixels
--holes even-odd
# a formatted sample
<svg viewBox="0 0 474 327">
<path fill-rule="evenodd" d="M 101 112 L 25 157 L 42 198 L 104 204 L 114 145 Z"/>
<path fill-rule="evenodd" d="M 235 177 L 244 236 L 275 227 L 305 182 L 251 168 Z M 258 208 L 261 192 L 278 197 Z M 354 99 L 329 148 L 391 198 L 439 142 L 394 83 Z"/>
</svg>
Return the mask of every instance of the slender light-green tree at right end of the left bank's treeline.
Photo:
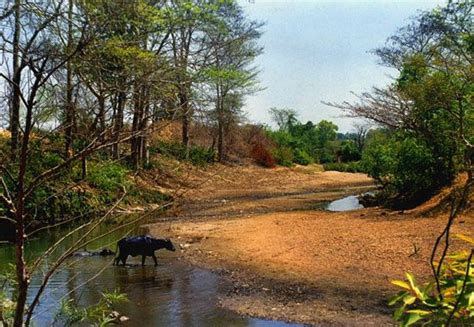
<svg viewBox="0 0 474 327">
<path fill-rule="evenodd" d="M 218 161 L 225 157 L 225 135 L 243 106 L 243 96 L 257 91 L 258 71 L 251 66 L 262 49 L 256 44 L 262 24 L 249 21 L 242 8 L 228 2 L 217 10 L 218 23 L 206 30 L 210 66 L 204 79 L 213 92 L 217 120 Z M 227 126 L 226 126 L 227 125 Z"/>
</svg>

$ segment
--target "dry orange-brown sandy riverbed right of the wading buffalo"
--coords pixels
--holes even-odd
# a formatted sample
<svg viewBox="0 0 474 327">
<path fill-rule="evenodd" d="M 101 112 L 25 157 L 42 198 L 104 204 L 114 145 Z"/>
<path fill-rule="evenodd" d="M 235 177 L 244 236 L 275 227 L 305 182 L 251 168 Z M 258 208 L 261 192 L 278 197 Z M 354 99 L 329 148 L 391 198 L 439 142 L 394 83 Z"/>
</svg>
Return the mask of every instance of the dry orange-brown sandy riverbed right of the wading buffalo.
<svg viewBox="0 0 474 327">
<path fill-rule="evenodd" d="M 390 325 L 389 280 L 428 276 L 446 217 L 378 208 L 322 210 L 325 201 L 372 187 L 362 174 L 314 168 L 223 167 L 194 177 L 175 214 L 148 226 L 172 236 L 182 256 L 231 279 L 222 306 L 318 325 Z M 454 232 L 472 233 L 471 216 Z M 416 250 L 415 250 L 416 249 Z"/>
</svg>

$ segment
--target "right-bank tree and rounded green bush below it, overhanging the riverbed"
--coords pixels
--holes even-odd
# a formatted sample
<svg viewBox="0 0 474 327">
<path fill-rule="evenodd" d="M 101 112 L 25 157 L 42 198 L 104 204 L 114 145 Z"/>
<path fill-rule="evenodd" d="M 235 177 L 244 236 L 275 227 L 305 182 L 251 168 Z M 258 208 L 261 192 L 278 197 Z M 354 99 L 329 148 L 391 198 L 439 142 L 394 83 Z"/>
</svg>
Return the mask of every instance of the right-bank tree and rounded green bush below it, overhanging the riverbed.
<svg viewBox="0 0 474 327">
<path fill-rule="evenodd" d="M 413 17 L 376 50 L 400 72 L 396 81 L 348 108 L 396 131 L 362 161 L 387 195 L 411 206 L 472 169 L 472 8 L 449 1 Z"/>
</svg>

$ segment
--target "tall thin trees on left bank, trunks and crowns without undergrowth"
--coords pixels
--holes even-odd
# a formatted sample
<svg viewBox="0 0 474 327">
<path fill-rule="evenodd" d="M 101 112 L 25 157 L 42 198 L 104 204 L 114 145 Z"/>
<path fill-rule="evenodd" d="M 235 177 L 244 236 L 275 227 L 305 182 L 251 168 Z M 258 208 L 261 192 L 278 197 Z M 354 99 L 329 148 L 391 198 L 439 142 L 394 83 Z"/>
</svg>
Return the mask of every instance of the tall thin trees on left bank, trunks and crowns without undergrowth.
<svg viewBox="0 0 474 327">
<path fill-rule="evenodd" d="M 11 156 L 32 130 L 54 130 L 67 160 L 91 142 L 148 160 L 154 123 L 205 121 L 225 157 L 228 125 L 257 89 L 261 23 L 236 1 L 16 0 L 2 8 L 2 118 Z"/>
</svg>

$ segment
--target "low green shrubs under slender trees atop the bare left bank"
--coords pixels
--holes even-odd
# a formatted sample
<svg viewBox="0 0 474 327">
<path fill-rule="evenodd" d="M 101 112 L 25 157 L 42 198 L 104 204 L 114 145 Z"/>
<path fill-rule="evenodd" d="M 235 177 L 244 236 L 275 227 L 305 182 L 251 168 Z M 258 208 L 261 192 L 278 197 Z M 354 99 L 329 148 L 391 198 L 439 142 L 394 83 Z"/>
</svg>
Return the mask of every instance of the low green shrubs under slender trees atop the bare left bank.
<svg viewBox="0 0 474 327">
<path fill-rule="evenodd" d="M 199 145 L 189 147 L 189 154 L 186 155 L 186 147 L 179 142 L 159 141 L 152 147 L 152 152 L 161 153 L 178 160 L 187 160 L 193 165 L 206 166 L 215 162 L 216 153 L 211 148 L 205 148 Z"/>
</svg>

